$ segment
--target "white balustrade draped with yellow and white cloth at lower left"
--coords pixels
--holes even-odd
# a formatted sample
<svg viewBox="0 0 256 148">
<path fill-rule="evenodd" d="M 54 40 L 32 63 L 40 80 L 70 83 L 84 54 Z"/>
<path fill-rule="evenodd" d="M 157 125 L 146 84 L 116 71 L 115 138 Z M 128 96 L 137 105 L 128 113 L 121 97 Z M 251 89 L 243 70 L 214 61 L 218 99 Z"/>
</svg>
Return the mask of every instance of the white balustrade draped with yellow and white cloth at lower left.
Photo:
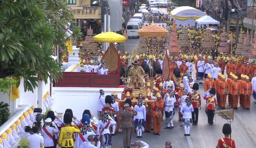
<svg viewBox="0 0 256 148">
<path fill-rule="evenodd" d="M 8 121 L 0 127 L 0 147 L 11 148 L 16 147 L 20 136 L 24 133 L 25 126 L 32 126 L 34 122 L 34 106 L 21 106 Z M 1 148 L 2 148 L 1 147 Z"/>
</svg>

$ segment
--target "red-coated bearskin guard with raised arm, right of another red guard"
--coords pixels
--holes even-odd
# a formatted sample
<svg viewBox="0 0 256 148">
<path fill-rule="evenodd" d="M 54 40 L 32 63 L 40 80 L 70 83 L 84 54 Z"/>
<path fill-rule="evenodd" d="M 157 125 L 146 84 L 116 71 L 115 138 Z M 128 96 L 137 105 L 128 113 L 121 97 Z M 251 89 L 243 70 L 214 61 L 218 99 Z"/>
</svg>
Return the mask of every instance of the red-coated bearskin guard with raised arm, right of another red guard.
<svg viewBox="0 0 256 148">
<path fill-rule="evenodd" d="M 206 96 L 205 94 L 203 95 L 203 97 L 205 100 L 207 100 L 206 112 L 208 117 L 208 123 L 209 125 L 213 125 L 214 111 L 217 109 L 217 101 L 215 98 L 216 89 L 214 87 L 211 87 L 211 89 L 209 90 L 210 96 Z"/>
</svg>

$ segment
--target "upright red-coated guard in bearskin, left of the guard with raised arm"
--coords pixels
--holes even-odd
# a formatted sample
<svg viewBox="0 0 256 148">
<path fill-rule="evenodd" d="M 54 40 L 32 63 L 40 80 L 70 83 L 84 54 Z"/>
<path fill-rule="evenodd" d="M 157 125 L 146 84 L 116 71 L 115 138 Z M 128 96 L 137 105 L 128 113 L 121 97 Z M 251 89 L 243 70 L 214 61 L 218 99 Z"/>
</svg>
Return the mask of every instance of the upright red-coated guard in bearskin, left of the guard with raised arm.
<svg viewBox="0 0 256 148">
<path fill-rule="evenodd" d="M 199 113 L 199 110 L 201 109 L 201 95 L 197 93 L 197 91 L 199 90 L 198 83 L 194 83 L 192 89 L 193 89 L 193 93 L 189 95 L 191 99 L 191 104 L 194 108 L 194 111 L 192 111 L 192 124 L 197 125 L 198 113 Z"/>
</svg>

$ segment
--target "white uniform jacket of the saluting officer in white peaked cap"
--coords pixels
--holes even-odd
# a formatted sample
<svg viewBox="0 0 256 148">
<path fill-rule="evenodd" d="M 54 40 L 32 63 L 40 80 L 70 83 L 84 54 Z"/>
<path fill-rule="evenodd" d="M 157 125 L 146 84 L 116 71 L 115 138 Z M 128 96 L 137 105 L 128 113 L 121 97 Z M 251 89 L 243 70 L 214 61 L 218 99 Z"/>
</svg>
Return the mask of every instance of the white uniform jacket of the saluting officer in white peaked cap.
<svg viewBox="0 0 256 148">
<path fill-rule="evenodd" d="M 56 126 L 56 125 L 55 125 Z M 50 135 L 53 136 L 53 133 L 57 134 L 59 133 L 59 129 L 54 127 L 50 127 L 49 125 L 45 126 L 46 130 L 50 133 Z M 50 146 L 54 146 L 54 142 L 52 140 L 52 138 L 50 138 L 46 133 L 45 131 L 42 129 L 42 136 L 43 136 L 43 141 L 44 141 L 44 145 L 45 147 L 50 147 Z M 58 137 L 56 137 L 55 135 L 55 138 L 57 139 Z"/>
</svg>

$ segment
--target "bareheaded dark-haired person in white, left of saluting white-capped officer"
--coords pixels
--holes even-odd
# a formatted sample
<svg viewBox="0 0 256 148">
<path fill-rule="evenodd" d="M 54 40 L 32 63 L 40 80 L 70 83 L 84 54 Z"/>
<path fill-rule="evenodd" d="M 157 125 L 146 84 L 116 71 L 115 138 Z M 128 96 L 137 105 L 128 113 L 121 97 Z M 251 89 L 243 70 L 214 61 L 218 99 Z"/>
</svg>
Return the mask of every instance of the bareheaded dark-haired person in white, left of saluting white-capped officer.
<svg viewBox="0 0 256 148">
<path fill-rule="evenodd" d="M 38 135 L 39 130 L 37 126 L 32 128 L 33 135 L 28 136 L 29 148 L 44 148 L 43 136 Z"/>
</svg>

